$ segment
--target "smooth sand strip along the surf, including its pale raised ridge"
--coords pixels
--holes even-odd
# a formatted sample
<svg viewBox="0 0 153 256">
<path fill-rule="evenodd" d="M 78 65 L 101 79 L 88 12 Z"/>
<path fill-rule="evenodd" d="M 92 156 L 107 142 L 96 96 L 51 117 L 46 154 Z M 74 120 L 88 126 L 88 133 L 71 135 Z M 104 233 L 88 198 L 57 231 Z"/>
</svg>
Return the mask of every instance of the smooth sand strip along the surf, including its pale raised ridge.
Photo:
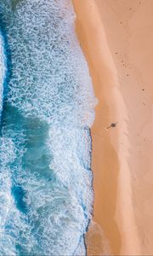
<svg viewBox="0 0 153 256">
<path fill-rule="evenodd" d="M 127 107 L 100 19 L 100 3 L 73 0 L 73 4 L 77 14 L 77 36 L 88 61 L 95 96 L 99 99 L 91 129 L 94 222 L 86 236 L 88 255 L 139 255 L 131 174 L 127 164 Z M 106 130 L 111 123 L 117 123 L 116 127 Z"/>
</svg>

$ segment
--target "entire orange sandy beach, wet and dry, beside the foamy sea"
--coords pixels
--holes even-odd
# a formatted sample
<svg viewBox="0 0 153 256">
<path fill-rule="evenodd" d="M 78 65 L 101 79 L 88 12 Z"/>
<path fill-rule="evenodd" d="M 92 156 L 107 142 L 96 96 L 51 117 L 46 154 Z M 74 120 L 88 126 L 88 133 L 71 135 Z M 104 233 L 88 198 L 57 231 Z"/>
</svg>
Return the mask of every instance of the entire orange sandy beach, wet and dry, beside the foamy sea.
<svg viewBox="0 0 153 256">
<path fill-rule="evenodd" d="M 153 1 L 73 4 L 99 99 L 88 255 L 153 255 Z"/>
</svg>

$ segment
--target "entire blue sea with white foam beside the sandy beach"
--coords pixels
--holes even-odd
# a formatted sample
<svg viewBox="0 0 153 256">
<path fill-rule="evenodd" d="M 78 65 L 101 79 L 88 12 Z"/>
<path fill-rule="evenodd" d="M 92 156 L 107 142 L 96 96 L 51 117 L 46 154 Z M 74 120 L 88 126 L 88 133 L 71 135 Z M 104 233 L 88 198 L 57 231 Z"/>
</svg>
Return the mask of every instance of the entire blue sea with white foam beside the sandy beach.
<svg viewBox="0 0 153 256">
<path fill-rule="evenodd" d="M 0 255 L 85 255 L 95 98 L 70 0 L 0 0 Z"/>
</svg>

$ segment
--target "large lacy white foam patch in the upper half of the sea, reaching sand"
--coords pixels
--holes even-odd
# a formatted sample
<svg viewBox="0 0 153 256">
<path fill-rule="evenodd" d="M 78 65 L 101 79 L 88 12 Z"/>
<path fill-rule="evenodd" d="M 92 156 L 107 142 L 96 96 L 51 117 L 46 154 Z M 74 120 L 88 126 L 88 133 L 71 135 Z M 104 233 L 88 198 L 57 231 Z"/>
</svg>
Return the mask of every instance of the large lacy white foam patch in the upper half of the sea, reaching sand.
<svg viewBox="0 0 153 256">
<path fill-rule="evenodd" d="M 26 11 L 20 2 L 9 26 L 14 34 L 9 99 L 26 115 L 49 123 L 91 126 L 96 101 L 74 19 L 69 0 L 26 1 Z"/>
</svg>

